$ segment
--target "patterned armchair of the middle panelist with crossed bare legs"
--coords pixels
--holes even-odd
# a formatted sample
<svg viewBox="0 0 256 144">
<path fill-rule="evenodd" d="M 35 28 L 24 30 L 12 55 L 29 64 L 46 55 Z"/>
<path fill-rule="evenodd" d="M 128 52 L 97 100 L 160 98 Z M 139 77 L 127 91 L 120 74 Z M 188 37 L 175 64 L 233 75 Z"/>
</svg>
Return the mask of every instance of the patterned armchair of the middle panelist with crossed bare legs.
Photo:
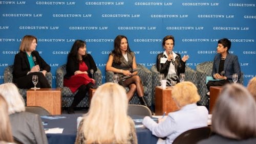
<svg viewBox="0 0 256 144">
<path fill-rule="evenodd" d="M 152 72 L 141 64 L 137 64 L 138 75 L 140 76 L 141 83 L 144 88 L 144 97 L 148 106 L 151 106 L 152 102 Z M 106 82 L 113 81 L 113 71 L 106 71 Z M 125 87 L 126 92 L 129 91 L 129 87 Z M 137 92 L 135 93 L 129 104 L 141 104 Z"/>
</svg>

